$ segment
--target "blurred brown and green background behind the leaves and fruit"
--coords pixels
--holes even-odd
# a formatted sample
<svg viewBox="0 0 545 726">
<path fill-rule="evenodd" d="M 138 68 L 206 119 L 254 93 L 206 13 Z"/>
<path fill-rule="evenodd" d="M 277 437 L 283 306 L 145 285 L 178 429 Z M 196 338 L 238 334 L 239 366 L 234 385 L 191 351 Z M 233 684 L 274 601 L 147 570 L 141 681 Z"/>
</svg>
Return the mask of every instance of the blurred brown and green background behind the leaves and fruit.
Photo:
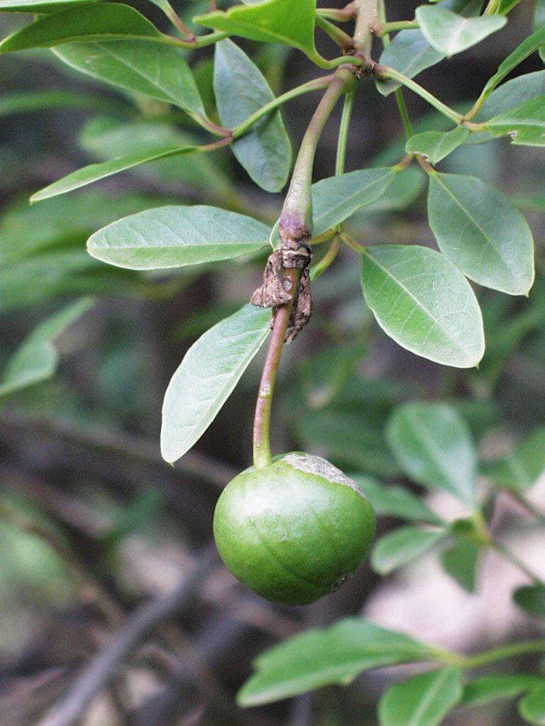
<svg viewBox="0 0 545 726">
<path fill-rule="evenodd" d="M 413 17 L 415 4 L 389 5 L 389 20 Z M 134 6 L 168 27 L 152 4 Z M 176 7 L 189 20 L 208 6 L 182 0 Z M 528 35 L 532 12 L 531 1 L 521 2 L 504 30 L 430 68 L 419 81 L 463 107 Z M 15 15 L 0 15 L 1 36 L 30 19 Z M 318 44 L 324 54 L 336 54 L 327 38 L 320 36 Z M 302 54 L 286 47 L 241 45 L 276 94 L 315 75 Z M 377 44 L 376 57 L 378 52 Z M 211 58 L 211 49 L 191 58 L 209 105 Z M 516 75 L 541 68 L 534 54 Z M 405 98 L 417 131 L 448 128 L 419 97 Z M 283 111 L 294 149 L 316 102 L 316 94 L 307 94 Z M 340 107 L 320 140 L 315 179 L 334 173 L 339 118 Z M 114 219 L 173 202 L 208 203 L 273 224 L 281 196 L 258 189 L 222 151 L 148 164 L 28 205 L 32 192 L 73 169 L 161 134 L 205 140 L 182 113 L 175 116 L 159 102 L 82 76 L 52 52 L 1 57 L 2 366 L 45 319 L 81 298 L 89 298 L 89 307 L 83 311 L 84 303 L 57 335 L 55 375 L 0 401 L 0 723 L 374 725 L 377 697 L 406 669 L 371 672 L 347 688 L 324 688 L 258 709 L 238 709 L 235 693 L 262 650 L 347 614 L 364 613 L 468 652 L 531 637 L 536 621 L 510 600 L 524 577 L 489 557 L 477 592 L 468 595 L 431 555 L 387 579 L 364 566 L 315 605 L 283 608 L 252 595 L 227 573 L 211 544 L 212 514 L 219 491 L 251 462 L 262 357 L 174 468 L 158 450 L 161 402 L 190 344 L 248 300 L 266 255 L 213 269 L 141 274 L 95 261 L 85 242 Z M 402 134 L 393 97 L 377 94 L 371 81 L 360 83 L 347 171 L 399 160 Z M 453 404 L 483 461 L 512 451 L 543 423 L 543 161 L 540 150 L 498 140 L 461 147 L 440 164 L 443 171 L 480 176 L 500 187 L 525 213 L 536 238 L 538 275 L 528 299 L 477 290 L 487 339 L 480 369 L 441 367 L 387 338 L 363 302 L 355 256 L 342 251 L 315 285 L 311 325 L 283 358 L 273 412 L 276 452 L 322 454 L 348 472 L 417 492 L 400 475 L 384 439 L 384 425 L 403 401 Z M 424 182 L 411 169 L 395 201 L 392 192 L 347 228 L 363 244 L 433 245 Z M 532 497 L 545 506 L 543 482 Z M 428 496 L 427 502 L 448 519 L 464 515 L 446 494 Z M 493 516 L 512 548 L 545 574 L 543 530 L 533 529 L 507 496 L 498 499 Z M 397 524 L 380 518 L 379 532 Z M 118 650 L 105 651 L 114 641 Z M 100 661 L 104 653 L 113 661 Z M 89 674 L 89 664 L 94 681 L 82 683 L 78 674 Z M 100 682 L 101 673 L 111 675 Z M 55 711 L 57 720 L 44 720 L 61 701 L 65 710 Z M 459 711 L 447 723 L 516 726 L 520 720 L 501 703 Z"/>
</svg>

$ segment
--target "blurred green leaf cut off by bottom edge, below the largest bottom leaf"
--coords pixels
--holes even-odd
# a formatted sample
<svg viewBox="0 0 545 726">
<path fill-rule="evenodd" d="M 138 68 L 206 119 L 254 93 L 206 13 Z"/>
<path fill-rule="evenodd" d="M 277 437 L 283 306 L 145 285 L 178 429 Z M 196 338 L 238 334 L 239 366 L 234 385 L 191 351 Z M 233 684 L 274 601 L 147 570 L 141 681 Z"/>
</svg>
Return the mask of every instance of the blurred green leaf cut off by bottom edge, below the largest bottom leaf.
<svg viewBox="0 0 545 726">
<path fill-rule="evenodd" d="M 461 669 L 448 666 L 395 683 L 379 702 L 381 726 L 439 726 L 462 696 Z"/>
</svg>

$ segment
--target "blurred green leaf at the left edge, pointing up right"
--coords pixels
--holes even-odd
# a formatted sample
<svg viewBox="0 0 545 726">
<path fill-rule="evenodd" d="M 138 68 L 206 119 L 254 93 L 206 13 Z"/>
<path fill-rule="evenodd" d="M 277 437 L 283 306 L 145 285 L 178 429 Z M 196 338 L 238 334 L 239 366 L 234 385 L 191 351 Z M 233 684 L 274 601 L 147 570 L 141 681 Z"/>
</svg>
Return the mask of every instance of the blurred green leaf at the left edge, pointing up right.
<svg viewBox="0 0 545 726">
<path fill-rule="evenodd" d="M 80 300 L 41 323 L 9 359 L 0 378 L 0 399 L 21 388 L 47 380 L 55 373 L 59 356 L 53 342 L 67 327 L 81 317 L 91 301 Z"/>
</svg>

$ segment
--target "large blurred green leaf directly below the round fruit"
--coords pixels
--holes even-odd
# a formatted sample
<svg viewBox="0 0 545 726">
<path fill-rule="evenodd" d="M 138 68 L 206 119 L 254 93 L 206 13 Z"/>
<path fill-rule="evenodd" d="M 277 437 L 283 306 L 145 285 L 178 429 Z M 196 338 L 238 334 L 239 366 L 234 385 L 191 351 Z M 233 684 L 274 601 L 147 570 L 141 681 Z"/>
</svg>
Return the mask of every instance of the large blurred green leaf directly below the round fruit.
<svg viewBox="0 0 545 726">
<path fill-rule="evenodd" d="M 279 701 L 324 685 L 346 685 L 362 671 L 425 660 L 430 649 L 367 620 L 346 618 L 326 629 L 296 635 L 263 653 L 238 693 L 241 706 Z"/>
</svg>

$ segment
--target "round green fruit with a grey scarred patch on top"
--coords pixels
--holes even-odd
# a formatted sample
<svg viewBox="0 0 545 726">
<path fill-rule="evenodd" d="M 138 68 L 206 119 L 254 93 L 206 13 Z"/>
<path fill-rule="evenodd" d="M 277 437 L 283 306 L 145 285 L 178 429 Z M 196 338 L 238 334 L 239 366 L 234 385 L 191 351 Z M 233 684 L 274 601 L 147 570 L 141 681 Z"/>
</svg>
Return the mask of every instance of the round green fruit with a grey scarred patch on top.
<svg viewBox="0 0 545 726">
<path fill-rule="evenodd" d="M 289 605 L 336 590 L 368 554 L 374 531 L 357 484 L 299 452 L 235 476 L 214 512 L 225 566 L 259 595 Z"/>
</svg>

